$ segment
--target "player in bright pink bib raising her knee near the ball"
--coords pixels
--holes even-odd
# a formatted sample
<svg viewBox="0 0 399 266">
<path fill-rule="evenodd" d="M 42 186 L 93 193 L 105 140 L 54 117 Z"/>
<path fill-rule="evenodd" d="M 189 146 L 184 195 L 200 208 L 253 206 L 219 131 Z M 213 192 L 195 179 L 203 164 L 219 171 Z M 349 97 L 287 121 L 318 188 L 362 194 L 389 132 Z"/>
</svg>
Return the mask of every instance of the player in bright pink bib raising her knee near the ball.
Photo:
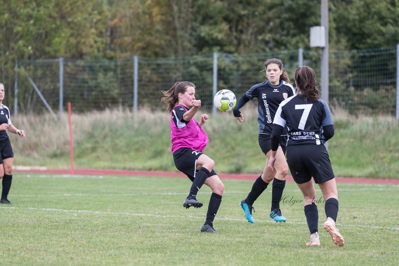
<svg viewBox="0 0 399 266">
<path fill-rule="evenodd" d="M 201 232 L 216 233 L 213 229 L 213 219 L 222 201 L 224 185 L 213 170 L 215 162 L 202 153 L 208 143 L 202 126 L 209 116 L 202 114 L 199 123 L 194 119 L 201 106 L 201 100 L 196 100 L 195 97 L 195 87 L 188 81 L 176 82 L 168 91 L 162 91 L 165 97 L 161 100 L 166 103 L 166 109 L 172 114 L 170 138 L 174 164 L 193 182 L 183 207 L 202 207 L 202 202 L 198 201 L 196 196 L 203 184 L 209 186 L 212 194 Z M 189 109 L 189 106 L 192 108 Z"/>
</svg>

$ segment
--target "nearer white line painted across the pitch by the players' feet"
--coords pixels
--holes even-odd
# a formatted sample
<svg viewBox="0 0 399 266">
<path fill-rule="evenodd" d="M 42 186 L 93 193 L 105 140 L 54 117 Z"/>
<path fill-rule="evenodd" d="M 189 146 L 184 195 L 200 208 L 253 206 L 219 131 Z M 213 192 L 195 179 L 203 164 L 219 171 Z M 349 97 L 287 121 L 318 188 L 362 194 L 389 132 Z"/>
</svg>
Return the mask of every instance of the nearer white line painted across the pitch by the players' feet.
<svg viewBox="0 0 399 266">
<path fill-rule="evenodd" d="M 90 214 L 100 214 L 100 215 L 131 215 L 131 216 L 143 216 L 143 217 L 160 217 L 160 218 L 179 218 L 179 219 L 201 219 L 203 217 L 198 216 L 177 216 L 177 215 L 158 215 L 158 214 L 145 214 L 145 213 L 128 213 L 128 212 L 111 212 L 111 211 L 88 211 L 88 210 L 64 210 L 64 209 L 49 209 L 49 208 L 32 208 L 32 207 L 2 207 L 0 209 L 20 209 L 20 210 L 33 210 L 33 211 L 58 211 L 58 212 L 65 212 L 65 213 L 90 213 Z M 217 217 L 217 220 L 226 220 L 226 221 L 244 221 L 244 219 L 234 219 L 229 217 Z M 257 220 L 258 223 L 275 223 L 275 221 L 264 221 L 264 220 Z M 306 225 L 305 222 L 286 222 L 293 225 Z M 319 223 L 322 225 L 322 223 Z M 385 230 L 397 230 L 399 231 L 398 227 L 381 227 L 381 226 L 374 226 L 374 225 L 348 225 L 348 224 L 340 224 L 336 223 L 336 225 L 340 227 L 362 227 L 362 228 L 371 228 L 371 229 L 385 229 Z"/>
</svg>

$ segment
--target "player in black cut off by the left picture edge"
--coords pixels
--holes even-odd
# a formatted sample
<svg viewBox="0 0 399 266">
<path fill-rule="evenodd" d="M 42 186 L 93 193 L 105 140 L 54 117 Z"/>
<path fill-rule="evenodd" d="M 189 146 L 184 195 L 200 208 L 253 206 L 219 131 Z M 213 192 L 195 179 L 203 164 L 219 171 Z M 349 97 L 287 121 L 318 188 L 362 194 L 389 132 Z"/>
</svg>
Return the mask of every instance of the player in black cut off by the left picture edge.
<svg viewBox="0 0 399 266">
<path fill-rule="evenodd" d="M 7 130 L 25 136 L 24 130 L 17 129 L 10 119 L 10 110 L 2 102 L 4 100 L 4 85 L 0 83 L 0 178 L 2 178 L 2 193 L 0 203 L 12 204 L 7 197 L 10 192 L 12 181 L 12 164 L 14 163 L 14 152 L 12 151 L 11 142 L 8 138 Z"/>
</svg>

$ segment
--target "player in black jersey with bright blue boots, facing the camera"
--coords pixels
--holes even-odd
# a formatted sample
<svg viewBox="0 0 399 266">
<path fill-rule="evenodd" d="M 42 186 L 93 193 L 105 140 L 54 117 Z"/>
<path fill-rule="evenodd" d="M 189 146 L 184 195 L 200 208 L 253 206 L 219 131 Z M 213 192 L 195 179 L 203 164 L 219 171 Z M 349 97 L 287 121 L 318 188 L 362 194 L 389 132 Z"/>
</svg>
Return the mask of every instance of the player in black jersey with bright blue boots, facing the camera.
<svg viewBox="0 0 399 266">
<path fill-rule="evenodd" d="M 237 104 L 233 109 L 233 114 L 239 122 L 243 122 L 244 116 L 239 109 L 249 100 L 258 98 L 258 141 L 262 152 L 267 156 L 267 158 L 269 158 L 271 154 L 270 137 L 273 130 L 273 118 L 276 114 L 277 108 L 279 107 L 280 102 L 292 95 L 295 95 L 296 92 L 289 83 L 290 79 L 288 78 L 280 59 L 268 59 L 263 65 L 268 80 L 253 86 L 249 91 L 247 91 L 237 101 Z M 288 166 L 284 156 L 286 148 L 286 143 L 283 140 L 284 137 L 286 138 L 286 133 L 283 133 L 281 144 L 277 150 L 276 169 L 270 170 L 269 167 L 267 167 L 267 159 L 262 175 L 255 180 L 247 198 L 240 202 L 240 206 L 245 213 L 245 218 L 250 223 L 254 223 L 252 217 L 253 203 L 262 194 L 262 192 L 265 191 L 267 185 L 269 185 L 272 180 L 273 189 L 270 217 L 275 219 L 276 222 L 286 221 L 286 218 L 281 214 L 280 210 L 280 200 L 285 187 L 285 178 L 288 173 Z"/>
</svg>

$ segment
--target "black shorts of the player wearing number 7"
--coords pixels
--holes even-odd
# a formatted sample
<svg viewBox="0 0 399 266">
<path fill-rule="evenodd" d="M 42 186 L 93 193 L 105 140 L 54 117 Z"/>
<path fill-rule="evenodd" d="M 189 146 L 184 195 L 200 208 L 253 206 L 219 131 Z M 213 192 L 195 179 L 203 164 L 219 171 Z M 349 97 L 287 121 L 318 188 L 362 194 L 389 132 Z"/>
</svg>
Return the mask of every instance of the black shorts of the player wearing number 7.
<svg viewBox="0 0 399 266">
<path fill-rule="evenodd" d="M 287 163 L 294 181 L 298 184 L 308 182 L 312 177 L 317 184 L 335 177 L 323 144 L 288 145 Z"/>
</svg>

